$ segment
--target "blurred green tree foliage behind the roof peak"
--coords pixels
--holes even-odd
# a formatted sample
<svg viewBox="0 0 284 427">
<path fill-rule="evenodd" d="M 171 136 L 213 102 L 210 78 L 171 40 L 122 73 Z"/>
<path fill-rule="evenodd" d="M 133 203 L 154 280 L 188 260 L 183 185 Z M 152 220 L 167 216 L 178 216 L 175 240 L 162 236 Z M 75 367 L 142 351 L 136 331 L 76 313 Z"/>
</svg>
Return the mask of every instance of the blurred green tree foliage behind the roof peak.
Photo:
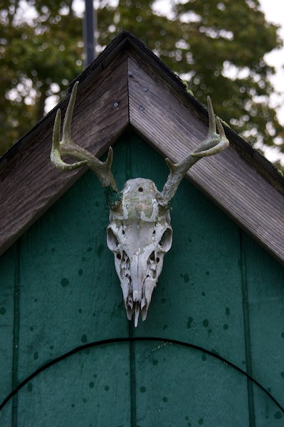
<svg viewBox="0 0 284 427">
<path fill-rule="evenodd" d="M 32 19 L 23 14 L 25 4 Z M 0 5 L 1 154 L 43 117 L 46 99 L 59 100 L 83 70 L 83 25 L 73 0 Z M 168 16 L 154 6 L 149 0 L 101 0 L 100 48 L 122 30 L 134 33 L 188 80 L 199 100 L 211 95 L 218 115 L 248 142 L 283 142 L 270 107 L 275 70 L 265 62 L 265 53 L 282 42 L 258 0 L 176 0 Z"/>
</svg>

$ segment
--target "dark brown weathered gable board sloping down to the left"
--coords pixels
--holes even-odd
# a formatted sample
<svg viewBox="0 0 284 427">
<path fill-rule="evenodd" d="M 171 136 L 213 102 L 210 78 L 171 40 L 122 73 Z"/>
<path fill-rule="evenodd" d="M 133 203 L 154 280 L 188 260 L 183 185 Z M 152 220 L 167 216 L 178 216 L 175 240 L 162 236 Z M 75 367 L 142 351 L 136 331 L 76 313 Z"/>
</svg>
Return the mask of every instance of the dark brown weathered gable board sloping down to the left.
<svg viewBox="0 0 284 427">
<path fill-rule="evenodd" d="M 92 76 L 89 79 L 92 80 Z M 129 123 L 125 56 L 116 58 L 97 78 L 90 80 L 84 80 L 78 87 L 73 139 L 100 156 Z M 63 113 L 67 102 L 67 99 L 61 102 Z M 82 168 L 63 174 L 51 164 L 49 154 L 55 115 L 56 110 L 53 110 L 33 132 L 23 137 L 14 155 L 1 163 L 0 253 L 85 172 Z"/>
</svg>

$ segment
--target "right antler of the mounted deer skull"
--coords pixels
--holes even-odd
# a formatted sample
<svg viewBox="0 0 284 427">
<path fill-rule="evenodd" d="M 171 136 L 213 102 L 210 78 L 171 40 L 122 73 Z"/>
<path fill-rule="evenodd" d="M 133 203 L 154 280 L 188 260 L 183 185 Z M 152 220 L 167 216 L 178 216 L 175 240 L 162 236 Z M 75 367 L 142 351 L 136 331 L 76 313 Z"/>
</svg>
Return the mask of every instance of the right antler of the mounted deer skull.
<svg viewBox="0 0 284 427">
<path fill-rule="evenodd" d="M 169 176 L 162 193 L 159 194 L 159 204 L 167 206 L 169 201 L 172 200 L 177 188 L 182 181 L 186 172 L 196 163 L 201 157 L 212 156 L 220 153 L 223 149 L 228 147 L 228 139 L 226 138 L 223 126 L 221 125 L 219 117 L 214 115 L 212 102 L 210 97 L 207 97 L 208 112 L 209 112 L 209 131 L 204 141 L 194 149 L 182 162 L 173 163 L 170 159 L 166 159 L 169 167 Z M 216 132 L 218 127 L 219 134 Z"/>
</svg>

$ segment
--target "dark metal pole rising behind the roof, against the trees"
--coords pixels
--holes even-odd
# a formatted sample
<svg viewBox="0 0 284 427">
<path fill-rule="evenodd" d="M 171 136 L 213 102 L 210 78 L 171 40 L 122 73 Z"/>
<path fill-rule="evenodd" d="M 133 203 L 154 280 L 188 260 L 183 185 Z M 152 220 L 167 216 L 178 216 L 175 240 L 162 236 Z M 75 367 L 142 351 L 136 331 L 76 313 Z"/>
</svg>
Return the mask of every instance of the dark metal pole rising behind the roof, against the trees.
<svg viewBox="0 0 284 427">
<path fill-rule="evenodd" d="M 97 14 L 93 6 L 93 0 L 85 0 L 84 18 L 84 43 L 85 43 L 85 65 L 95 59 L 95 31 L 97 26 Z"/>
</svg>

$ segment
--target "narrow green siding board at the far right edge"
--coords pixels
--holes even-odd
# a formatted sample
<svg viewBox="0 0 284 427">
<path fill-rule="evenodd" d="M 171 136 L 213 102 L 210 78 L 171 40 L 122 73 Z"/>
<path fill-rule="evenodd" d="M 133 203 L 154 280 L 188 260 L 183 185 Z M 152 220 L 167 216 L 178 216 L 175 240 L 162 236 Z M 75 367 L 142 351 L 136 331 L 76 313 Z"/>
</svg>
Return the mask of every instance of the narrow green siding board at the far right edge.
<svg viewBox="0 0 284 427">
<path fill-rule="evenodd" d="M 284 407 L 284 270 L 245 233 L 241 238 L 246 263 L 252 374 Z M 254 396 L 256 426 L 280 426 L 284 413 L 257 387 Z"/>
</svg>

